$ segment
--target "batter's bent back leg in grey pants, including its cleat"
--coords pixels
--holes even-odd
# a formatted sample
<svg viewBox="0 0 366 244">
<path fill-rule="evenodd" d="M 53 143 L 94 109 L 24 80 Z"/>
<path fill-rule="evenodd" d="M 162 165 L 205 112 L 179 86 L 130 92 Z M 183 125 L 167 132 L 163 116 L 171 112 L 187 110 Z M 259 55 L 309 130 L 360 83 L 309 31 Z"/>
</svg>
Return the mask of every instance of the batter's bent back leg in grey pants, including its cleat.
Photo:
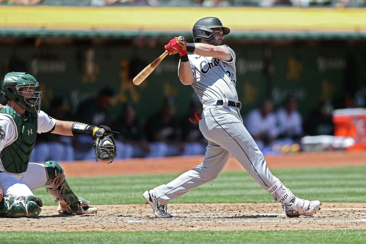
<svg viewBox="0 0 366 244">
<path fill-rule="evenodd" d="M 203 159 L 203 162 L 197 168 L 181 174 L 168 184 L 155 187 L 151 191 L 146 191 L 143 195 L 146 203 L 152 206 L 156 217 L 171 217 L 170 214 L 166 213 L 168 201 L 178 198 L 208 181 L 216 179 L 224 169 L 230 156 L 231 154 L 227 150 L 213 142 L 209 142 L 206 148 L 205 159 Z"/>
</svg>

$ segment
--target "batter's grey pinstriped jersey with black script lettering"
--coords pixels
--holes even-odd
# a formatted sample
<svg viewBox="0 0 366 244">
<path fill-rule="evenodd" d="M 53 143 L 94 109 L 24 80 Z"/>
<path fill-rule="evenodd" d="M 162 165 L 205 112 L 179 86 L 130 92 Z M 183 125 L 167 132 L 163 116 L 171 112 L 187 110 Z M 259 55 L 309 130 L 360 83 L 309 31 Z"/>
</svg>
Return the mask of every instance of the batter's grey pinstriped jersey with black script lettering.
<svg viewBox="0 0 366 244">
<path fill-rule="evenodd" d="M 193 71 L 191 86 L 202 104 L 222 98 L 238 101 L 238 93 L 235 88 L 235 52 L 227 45 L 223 45 L 223 47 L 228 49 L 232 56 L 230 62 L 197 54 L 188 55 Z"/>
</svg>

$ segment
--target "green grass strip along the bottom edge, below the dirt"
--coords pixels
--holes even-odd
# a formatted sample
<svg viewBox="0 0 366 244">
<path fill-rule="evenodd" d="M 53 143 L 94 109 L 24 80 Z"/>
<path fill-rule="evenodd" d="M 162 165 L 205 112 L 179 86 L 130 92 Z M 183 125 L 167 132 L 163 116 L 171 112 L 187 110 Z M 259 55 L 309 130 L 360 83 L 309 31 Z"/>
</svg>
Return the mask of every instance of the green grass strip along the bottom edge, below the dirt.
<svg viewBox="0 0 366 244">
<path fill-rule="evenodd" d="M 0 232 L 1 243 L 365 243 L 365 230 Z M 58 241 L 57 241 L 58 240 Z"/>
</svg>

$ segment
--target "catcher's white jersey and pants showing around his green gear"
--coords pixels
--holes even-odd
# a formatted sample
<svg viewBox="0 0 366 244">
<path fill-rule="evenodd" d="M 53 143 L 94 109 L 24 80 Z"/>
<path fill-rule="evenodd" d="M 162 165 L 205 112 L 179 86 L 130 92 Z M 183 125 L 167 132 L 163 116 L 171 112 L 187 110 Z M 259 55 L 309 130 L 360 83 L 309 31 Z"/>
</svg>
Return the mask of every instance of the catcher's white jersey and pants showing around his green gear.
<svg viewBox="0 0 366 244">
<path fill-rule="evenodd" d="M 40 111 L 37 119 L 37 131 L 28 131 L 28 133 L 49 132 L 55 124 L 55 119 Z M 3 113 L 0 113 L 0 126 L 0 129 L 5 134 L 5 138 L 0 139 L 0 151 L 2 151 L 16 140 L 17 131 L 12 117 Z M 42 164 L 29 163 L 26 172 L 20 174 L 6 173 L 4 171 L 0 158 L 0 185 L 4 196 L 10 196 L 19 200 L 22 196 L 34 195 L 31 190 L 46 185 L 47 174 Z"/>
</svg>

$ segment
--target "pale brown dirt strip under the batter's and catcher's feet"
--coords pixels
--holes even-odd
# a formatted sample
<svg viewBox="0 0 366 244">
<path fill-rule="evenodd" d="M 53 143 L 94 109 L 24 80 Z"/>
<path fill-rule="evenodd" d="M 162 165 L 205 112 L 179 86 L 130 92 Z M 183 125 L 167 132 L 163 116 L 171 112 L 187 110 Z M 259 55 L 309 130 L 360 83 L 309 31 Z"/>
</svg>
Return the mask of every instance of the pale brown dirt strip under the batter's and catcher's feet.
<svg viewBox="0 0 366 244">
<path fill-rule="evenodd" d="M 324 230 L 366 229 L 363 203 L 323 203 L 313 217 L 287 218 L 277 203 L 169 204 L 157 219 L 146 204 L 100 205 L 97 214 L 59 215 L 44 206 L 37 219 L 0 218 L 0 230 Z"/>
</svg>

